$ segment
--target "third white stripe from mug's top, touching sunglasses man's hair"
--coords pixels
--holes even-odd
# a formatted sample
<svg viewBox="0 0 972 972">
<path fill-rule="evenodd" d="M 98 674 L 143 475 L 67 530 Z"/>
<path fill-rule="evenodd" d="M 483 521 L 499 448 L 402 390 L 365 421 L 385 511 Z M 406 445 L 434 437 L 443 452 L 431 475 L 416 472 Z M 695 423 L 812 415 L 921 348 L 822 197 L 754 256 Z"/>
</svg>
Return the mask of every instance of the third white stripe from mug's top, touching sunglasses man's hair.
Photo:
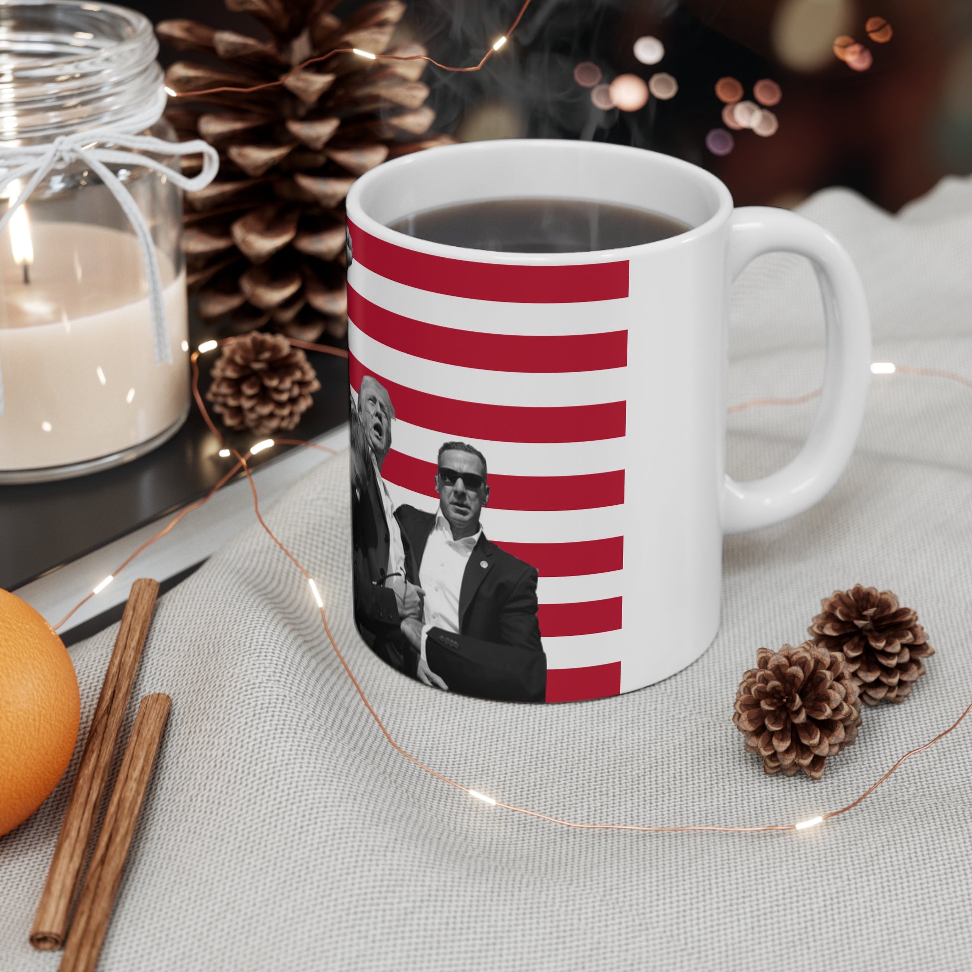
<svg viewBox="0 0 972 972">
<path fill-rule="evenodd" d="M 427 463 L 435 462 L 438 447 L 450 439 L 475 446 L 486 457 L 489 471 L 503 475 L 575 476 L 624 469 L 626 465 L 623 436 L 592 442 L 499 442 L 469 438 L 459 432 L 434 432 L 399 419 L 392 422 L 392 448 Z"/>
</svg>

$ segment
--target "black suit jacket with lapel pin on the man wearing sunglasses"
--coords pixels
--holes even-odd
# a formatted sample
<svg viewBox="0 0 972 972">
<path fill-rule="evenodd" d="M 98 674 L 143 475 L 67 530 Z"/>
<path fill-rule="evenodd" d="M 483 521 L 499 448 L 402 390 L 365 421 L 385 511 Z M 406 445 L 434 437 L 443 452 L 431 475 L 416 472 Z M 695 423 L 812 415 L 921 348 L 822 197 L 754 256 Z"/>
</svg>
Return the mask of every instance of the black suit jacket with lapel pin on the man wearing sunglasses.
<svg viewBox="0 0 972 972">
<path fill-rule="evenodd" d="M 435 517 L 414 506 L 395 511 L 419 583 L 422 555 Z M 480 534 L 459 594 L 459 634 L 430 630 L 429 668 L 449 690 L 505 702 L 543 702 L 546 655 L 537 618 L 537 569 Z"/>
</svg>

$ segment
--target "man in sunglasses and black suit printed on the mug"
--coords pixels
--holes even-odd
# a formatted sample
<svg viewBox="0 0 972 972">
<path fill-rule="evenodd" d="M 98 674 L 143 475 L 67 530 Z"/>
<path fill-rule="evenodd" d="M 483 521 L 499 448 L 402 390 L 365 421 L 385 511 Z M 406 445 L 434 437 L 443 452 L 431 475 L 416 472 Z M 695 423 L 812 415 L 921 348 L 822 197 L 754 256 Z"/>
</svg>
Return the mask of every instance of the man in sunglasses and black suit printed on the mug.
<svg viewBox="0 0 972 972">
<path fill-rule="evenodd" d="M 416 675 L 450 691 L 543 702 L 546 656 L 537 618 L 537 570 L 484 536 L 486 459 L 466 442 L 438 450 L 438 511 L 399 506 L 423 620 L 400 628 L 419 654 Z"/>
</svg>

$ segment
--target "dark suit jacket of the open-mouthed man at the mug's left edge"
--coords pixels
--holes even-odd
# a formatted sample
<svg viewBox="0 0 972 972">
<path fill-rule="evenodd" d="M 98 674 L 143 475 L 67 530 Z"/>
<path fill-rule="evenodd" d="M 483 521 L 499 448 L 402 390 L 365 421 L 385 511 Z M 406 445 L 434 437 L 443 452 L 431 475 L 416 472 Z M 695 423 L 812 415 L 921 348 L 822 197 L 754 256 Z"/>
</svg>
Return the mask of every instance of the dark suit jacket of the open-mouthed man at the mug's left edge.
<svg viewBox="0 0 972 972">
<path fill-rule="evenodd" d="M 380 490 L 369 459 L 364 489 L 351 487 L 355 622 L 364 642 L 379 658 L 399 672 L 414 675 L 418 656 L 401 634 L 395 592 L 385 587 L 391 538 Z"/>
</svg>

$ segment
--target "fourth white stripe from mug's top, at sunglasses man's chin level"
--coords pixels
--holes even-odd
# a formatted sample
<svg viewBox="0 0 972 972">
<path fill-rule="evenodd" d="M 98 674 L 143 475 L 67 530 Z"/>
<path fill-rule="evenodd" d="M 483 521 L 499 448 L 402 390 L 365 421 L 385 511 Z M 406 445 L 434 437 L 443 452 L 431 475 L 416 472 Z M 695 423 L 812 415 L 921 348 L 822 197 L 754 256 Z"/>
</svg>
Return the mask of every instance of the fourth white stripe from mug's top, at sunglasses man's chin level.
<svg viewBox="0 0 972 972">
<path fill-rule="evenodd" d="M 396 507 L 408 503 L 417 509 L 434 513 L 438 501 L 402 489 L 385 480 Z M 520 509 L 482 511 L 483 532 L 491 540 L 507 543 L 574 543 L 624 535 L 624 506 L 602 506 L 600 509 L 568 509 L 531 512 Z"/>
</svg>

